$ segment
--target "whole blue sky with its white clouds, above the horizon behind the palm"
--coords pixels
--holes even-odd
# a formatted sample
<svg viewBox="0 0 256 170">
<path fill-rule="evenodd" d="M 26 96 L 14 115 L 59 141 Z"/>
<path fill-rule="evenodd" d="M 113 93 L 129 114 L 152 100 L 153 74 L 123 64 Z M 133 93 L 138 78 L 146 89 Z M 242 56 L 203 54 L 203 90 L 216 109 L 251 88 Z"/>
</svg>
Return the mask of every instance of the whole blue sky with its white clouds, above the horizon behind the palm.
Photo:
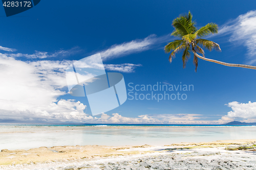
<svg viewBox="0 0 256 170">
<path fill-rule="evenodd" d="M 41 1 L 6 17 L 0 8 L 0 122 L 222 124 L 256 122 L 256 71 L 193 58 L 182 67 L 163 47 L 174 40 L 172 21 L 189 10 L 200 28 L 219 25 L 207 37 L 222 52 L 210 59 L 256 65 L 255 1 Z M 101 53 L 110 72 L 128 84 L 194 85 L 186 100 L 127 100 L 92 116 L 86 98 L 68 94 L 65 69 L 74 60 Z M 107 66 L 107 65 L 106 65 Z M 40 81 L 41 78 L 44 81 Z M 141 93 L 141 92 L 140 92 Z M 250 103 L 249 103 L 250 101 Z"/>
</svg>

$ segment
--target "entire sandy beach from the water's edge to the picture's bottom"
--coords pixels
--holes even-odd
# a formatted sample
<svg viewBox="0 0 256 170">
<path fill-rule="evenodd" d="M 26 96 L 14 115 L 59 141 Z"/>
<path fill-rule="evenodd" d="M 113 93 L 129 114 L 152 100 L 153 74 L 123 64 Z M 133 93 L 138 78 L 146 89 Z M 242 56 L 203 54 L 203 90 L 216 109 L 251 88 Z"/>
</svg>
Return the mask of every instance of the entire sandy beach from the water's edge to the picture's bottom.
<svg viewBox="0 0 256 170">
<path fill-rule="evenodd" d="M 120 169 L 141 169 L 143 167 L 146 169 L 162 169 L 164 166 L 168 166 L 168 169 L 172 169 L 170 166 L 173 166 L 173 169 L 175 169 L 176 166 L 178 168 L 178 166 L 196 167 L 200 165 L 205 169 L 214 169 L 212 168 L 214 165 L 221 166 L 223 164 L 223 167 L 230 166 L 229 169 L 240 169 L 240 167 L 242 169 L 243 166 L 245 166 L 244 169 L 255 169 L 256 148 L 254 150 L 248 150 L 248 147 L 244 150 L 227 150 L 230 146 L 238 147 L 254 141 L 256 139 L 173 143 L 164 146 L 66 145 L 29 150 L 3 149 L 0 152 L 0 168 L 113 169 L 114 167 L 120 167 Z M 224 167 L 223 169 L 228 168 Z"/>
</svg>

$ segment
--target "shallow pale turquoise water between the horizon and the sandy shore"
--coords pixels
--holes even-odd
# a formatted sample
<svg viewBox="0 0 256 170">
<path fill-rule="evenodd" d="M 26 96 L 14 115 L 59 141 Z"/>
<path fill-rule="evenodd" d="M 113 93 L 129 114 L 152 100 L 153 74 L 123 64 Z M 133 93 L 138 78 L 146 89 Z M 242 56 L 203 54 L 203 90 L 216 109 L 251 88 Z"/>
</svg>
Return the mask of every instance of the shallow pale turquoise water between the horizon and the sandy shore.
<svg viewBox="0 0 256 170">
<path fill-rule="evenodd" d="M 0 150 L 256 139 L 255 126 L 0 124 Z"/>
</svg>

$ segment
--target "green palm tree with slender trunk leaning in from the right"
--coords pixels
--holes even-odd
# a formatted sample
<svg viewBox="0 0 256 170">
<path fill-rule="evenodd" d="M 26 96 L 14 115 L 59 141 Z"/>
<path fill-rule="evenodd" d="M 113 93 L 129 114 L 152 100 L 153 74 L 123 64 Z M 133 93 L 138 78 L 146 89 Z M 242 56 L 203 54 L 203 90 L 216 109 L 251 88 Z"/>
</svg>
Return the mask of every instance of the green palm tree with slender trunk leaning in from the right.
<svg viewBox="0 0 256 170">
<path fill-rule="evenodd" d="M 178 18 L 173 20 L 173 27 L 175 30 L 171 34 L 171 36 L 179 37 L 181 39 L 174 40 L 173 42 L 169 42 L 165 47 L 165 53 L 170 53 L 169 62 L 175 58 L 175 54 L 183 51 L 182 61 L 183 68 L 186 67 L 187 60 L 190 58 L 191 51 L 194 53 L 194 64 L 196 66 L 195 71 L 197 71 L 198 66 L 198 58 L 215 62 L 218 64 L 231 66 L 231 67 L 243 67 L 243 68 L 251 68 L 256 69 L 256 66 L 244 65 L 244 64 L 230 64 L 217 60 L 212 60 L 205 58 L 203 48 L 206 48 L 209 51 L 215 49 L 216 51 L 221 52 L 220 45 L 216 42 L 202 39 L 202 37 L 207 36 L 209 34 L 218 33 L 218 25 L 216 23 L 208 23 L 206 26 L 201 27 L 199 30 L 195 27 L 196 22 L 192 20 L 192 14 L 190 11 L 187 15 L 180 15 Z M 197 53 L 202 54 L 203 56 L 198 55 Z"/>
</svg>

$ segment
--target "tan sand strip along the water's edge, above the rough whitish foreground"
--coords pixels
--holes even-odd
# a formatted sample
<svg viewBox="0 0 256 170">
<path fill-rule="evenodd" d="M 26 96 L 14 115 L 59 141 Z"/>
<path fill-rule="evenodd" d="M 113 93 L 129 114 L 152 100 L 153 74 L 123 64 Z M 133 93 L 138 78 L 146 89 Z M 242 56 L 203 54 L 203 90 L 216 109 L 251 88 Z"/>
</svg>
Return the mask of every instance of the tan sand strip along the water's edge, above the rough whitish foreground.
<svg viewBox="0 0 256 170">
<path fill-rule="evenodd" d="M 241 139 L 241 140 L 217 140 L 213 142 L 181 142 L 167 144 L 164 146 L 153 145 L 124 145 L 118 147 L 110 147 L 104 145 L 66 145 L 56 147 L 40 147 L 29 150 L 6 150 L 0 152 L 0 167 L 9 167 L 11 165 L 37 165 L 44 163 L 61 163 L 69 161 L 93 161 L 104 160 L 108 158 L 143 157 L 146 155 L 162 155 L 186 153 L 186 152 L 223 152 L 224 148 L 231 144 L 246 144 L 254 142 L 256 139 Z M 236 151 L 238 153 L 240 151 Z M 241 151 L 242 152 L 242 151 Z M 240 152 L 240 153 L 241 153 Z"/>
</svg>

